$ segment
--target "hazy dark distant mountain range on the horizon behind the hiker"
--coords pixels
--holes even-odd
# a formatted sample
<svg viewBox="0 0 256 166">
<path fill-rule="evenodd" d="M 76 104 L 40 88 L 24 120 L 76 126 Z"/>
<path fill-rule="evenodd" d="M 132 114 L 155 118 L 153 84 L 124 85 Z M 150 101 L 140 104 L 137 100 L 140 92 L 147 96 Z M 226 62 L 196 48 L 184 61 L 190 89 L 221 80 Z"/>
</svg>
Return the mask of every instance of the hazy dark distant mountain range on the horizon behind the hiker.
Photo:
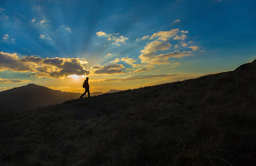
<svg viewBox="0 0 256 166">
<path fill-rule="evenodd" d="M 118 92 L 118 90 L 110 90 L 105 93 L 114 92 Z M 93 92 L 90 95 L 97 96 L 105 93 Z M 59 90 L 52 90 L 45 86 L 30 83 L 26 86 L 20 86 L 0 92 L 0 113 L 15 113 L 38 107 L 60 104 L 64 101 L 79 98 L 81 94 L 82 93 L 61 92 Z"/>
</svg>

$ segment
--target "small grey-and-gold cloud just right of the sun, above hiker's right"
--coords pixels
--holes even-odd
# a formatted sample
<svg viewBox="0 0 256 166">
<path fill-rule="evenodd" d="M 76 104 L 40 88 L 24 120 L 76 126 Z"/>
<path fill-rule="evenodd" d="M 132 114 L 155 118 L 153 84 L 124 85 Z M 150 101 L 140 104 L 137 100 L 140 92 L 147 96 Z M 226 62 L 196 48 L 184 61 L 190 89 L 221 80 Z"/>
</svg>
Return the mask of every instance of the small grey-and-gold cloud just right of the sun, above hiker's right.
<svg viewBox="0 0 256 166">
<path fill-rule="evenodd" d="M 97 65 L 92 67 L 94 74 L 118 74 L 123 73 L 123 68 L 125 68 L 123 65 L 118 65 L 117 63 L 113 63 L 110 65 Z"/>
</svg>

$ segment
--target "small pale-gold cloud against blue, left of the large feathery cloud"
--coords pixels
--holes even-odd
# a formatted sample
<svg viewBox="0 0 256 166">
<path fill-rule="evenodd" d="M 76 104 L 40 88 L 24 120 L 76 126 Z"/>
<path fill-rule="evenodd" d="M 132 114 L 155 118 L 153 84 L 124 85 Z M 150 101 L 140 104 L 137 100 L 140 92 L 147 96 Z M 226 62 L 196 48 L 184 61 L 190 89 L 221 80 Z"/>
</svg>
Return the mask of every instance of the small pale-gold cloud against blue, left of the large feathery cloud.
<svg viewBox="0 0 256 166">
<path fill-rule="evenodd" d="M 121 44 L 126 44 L 128 38 L 125 38 L 124 36 L 120 36 L 118 37 L 119 33 L 110 33 L 110 34 L 107 34 L 105 32 L 102 32 L 102 31 L 99 31 L 96 33 L 97 37 L 105 37 L 107 38 L 108 41 L 111 41 L 113 42 L 112 44 L 113 45 L 121 45 Z"/>
</svg>

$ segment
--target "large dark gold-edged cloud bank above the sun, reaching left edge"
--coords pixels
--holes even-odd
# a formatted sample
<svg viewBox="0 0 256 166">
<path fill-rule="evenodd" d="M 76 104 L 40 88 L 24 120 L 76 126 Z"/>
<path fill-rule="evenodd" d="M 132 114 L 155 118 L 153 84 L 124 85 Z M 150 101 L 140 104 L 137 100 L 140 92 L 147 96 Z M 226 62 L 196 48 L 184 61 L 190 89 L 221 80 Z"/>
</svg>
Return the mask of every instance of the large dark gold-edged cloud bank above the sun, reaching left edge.
<svg viewBox="0 0 256 166">
<path fill-rule="evenodd" d="M 86 60 L 79 58 L 20 58 L 16 53 L 0 52 L 0 71 L 30 72 L 36 77 L 63 78 L 73 74 L 88 75 L 90 70 L 84 67 L 86 63 Z"/>
</svg>

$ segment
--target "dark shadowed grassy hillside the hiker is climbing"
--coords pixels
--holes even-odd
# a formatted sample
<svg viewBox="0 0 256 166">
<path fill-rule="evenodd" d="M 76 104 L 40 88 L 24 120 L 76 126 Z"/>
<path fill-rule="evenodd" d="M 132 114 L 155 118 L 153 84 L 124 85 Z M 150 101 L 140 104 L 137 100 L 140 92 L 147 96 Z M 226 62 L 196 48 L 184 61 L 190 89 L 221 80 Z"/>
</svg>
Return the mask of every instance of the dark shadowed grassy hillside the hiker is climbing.
<svg viewBox="0 0 256 166">
<path fill-rule="evenodd" d="M 235 71 L 1 115 L 0 165 L 256 164 L 256 60 Z"/>
</svg>

